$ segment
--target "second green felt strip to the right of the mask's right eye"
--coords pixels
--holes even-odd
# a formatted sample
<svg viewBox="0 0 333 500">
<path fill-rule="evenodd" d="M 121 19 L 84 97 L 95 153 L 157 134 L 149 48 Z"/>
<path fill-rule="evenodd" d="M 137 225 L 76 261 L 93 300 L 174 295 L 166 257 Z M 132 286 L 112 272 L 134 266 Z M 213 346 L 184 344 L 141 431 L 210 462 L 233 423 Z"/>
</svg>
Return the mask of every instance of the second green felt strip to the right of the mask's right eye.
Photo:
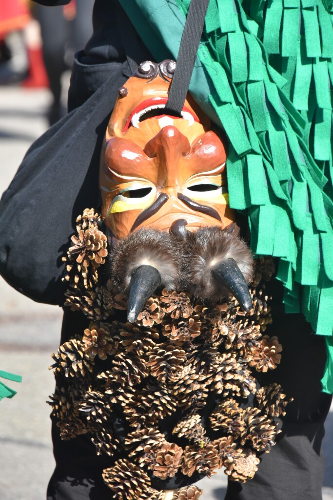
<svg viewBox="0 0 333 500">
<path fill-rule="evenodd" d="M 268 189 L 262 157 L 258 154 L 247 154 L 246 160 L 251 203 L 265 205 L 268 201 Z"/>
</svg>

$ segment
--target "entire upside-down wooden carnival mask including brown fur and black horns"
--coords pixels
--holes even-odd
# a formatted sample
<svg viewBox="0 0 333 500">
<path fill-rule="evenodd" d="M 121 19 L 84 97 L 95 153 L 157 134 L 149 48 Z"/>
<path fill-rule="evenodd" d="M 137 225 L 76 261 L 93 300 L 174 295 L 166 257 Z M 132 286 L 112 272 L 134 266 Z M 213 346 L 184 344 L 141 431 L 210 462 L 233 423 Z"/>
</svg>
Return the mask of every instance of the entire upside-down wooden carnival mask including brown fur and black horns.
<svg viewBox="0 0 333 500">
<path fill-rule="evenodd" d="M 117 247 L 113 281 L 129 295 L 130 320 L 160 285 L 202 298 L 231 290 L 243 307 L 252 304 L 251 254 L 224 231 L 235 219 L 228 205 L 226 138 L 211 129 L 189 94 L 181 117 L 163 114 L 174 69 L 171 60 L 138 67 L 119 89 L 102 149 L 102 215 Z M 228 265 L 217 271 L 221 259 Z M 184 262 L 192 268 L 197 262 L 199 273 L 184 279 Z"/>
</svg>

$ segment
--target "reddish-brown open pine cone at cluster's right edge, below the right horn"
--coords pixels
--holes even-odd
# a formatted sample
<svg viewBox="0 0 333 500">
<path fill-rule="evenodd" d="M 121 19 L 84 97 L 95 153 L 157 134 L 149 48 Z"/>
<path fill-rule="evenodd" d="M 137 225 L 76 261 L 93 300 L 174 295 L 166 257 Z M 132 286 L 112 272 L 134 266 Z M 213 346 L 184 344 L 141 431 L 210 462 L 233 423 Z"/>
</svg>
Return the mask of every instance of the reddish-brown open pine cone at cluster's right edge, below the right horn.
<svg viewBox="0 0 333 500">
<path fill-rule="evenodd" d="M 264 373 L 270 368 L 274 369 L 280 363 L 282 345 L 279 343 L 278 337 L 269 337 L 265 335 L 252 349 L 252 359 L 249 362 L 250 366 L 254 366 L 257 371 Z"/>
</svg>

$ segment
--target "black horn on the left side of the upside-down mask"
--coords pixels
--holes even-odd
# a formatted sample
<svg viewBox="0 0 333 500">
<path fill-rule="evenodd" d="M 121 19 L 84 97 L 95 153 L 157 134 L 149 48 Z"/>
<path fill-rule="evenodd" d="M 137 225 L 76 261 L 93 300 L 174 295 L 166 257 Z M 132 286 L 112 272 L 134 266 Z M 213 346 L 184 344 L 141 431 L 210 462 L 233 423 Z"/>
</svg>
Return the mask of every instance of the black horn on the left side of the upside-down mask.
<svg viewBox="0 0 333 500">
<path fill-rule="evenodd" d="M 161 275 L 152 265 L 140 265 L 135 269 L 129 284 L 127 320 L 136 320 L 147 298 L 161 284 Z"/>
</svg>

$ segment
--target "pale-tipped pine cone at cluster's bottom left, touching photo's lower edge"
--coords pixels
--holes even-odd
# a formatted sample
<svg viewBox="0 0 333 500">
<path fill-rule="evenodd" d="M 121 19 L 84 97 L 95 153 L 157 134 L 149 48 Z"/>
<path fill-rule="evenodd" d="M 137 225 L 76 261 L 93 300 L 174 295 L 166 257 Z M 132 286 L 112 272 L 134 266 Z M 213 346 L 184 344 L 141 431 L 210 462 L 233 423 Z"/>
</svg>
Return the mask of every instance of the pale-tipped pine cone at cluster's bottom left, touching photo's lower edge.
<svg viewBox="0 0 333 500">
<path fill-rule="evenodd" d="M 105 484 L 116 500 L 150 500 L 151 483 L 142 468 L 129 460 L 118 460 L 113 467 L 103 470 Z"/>
</svg>

